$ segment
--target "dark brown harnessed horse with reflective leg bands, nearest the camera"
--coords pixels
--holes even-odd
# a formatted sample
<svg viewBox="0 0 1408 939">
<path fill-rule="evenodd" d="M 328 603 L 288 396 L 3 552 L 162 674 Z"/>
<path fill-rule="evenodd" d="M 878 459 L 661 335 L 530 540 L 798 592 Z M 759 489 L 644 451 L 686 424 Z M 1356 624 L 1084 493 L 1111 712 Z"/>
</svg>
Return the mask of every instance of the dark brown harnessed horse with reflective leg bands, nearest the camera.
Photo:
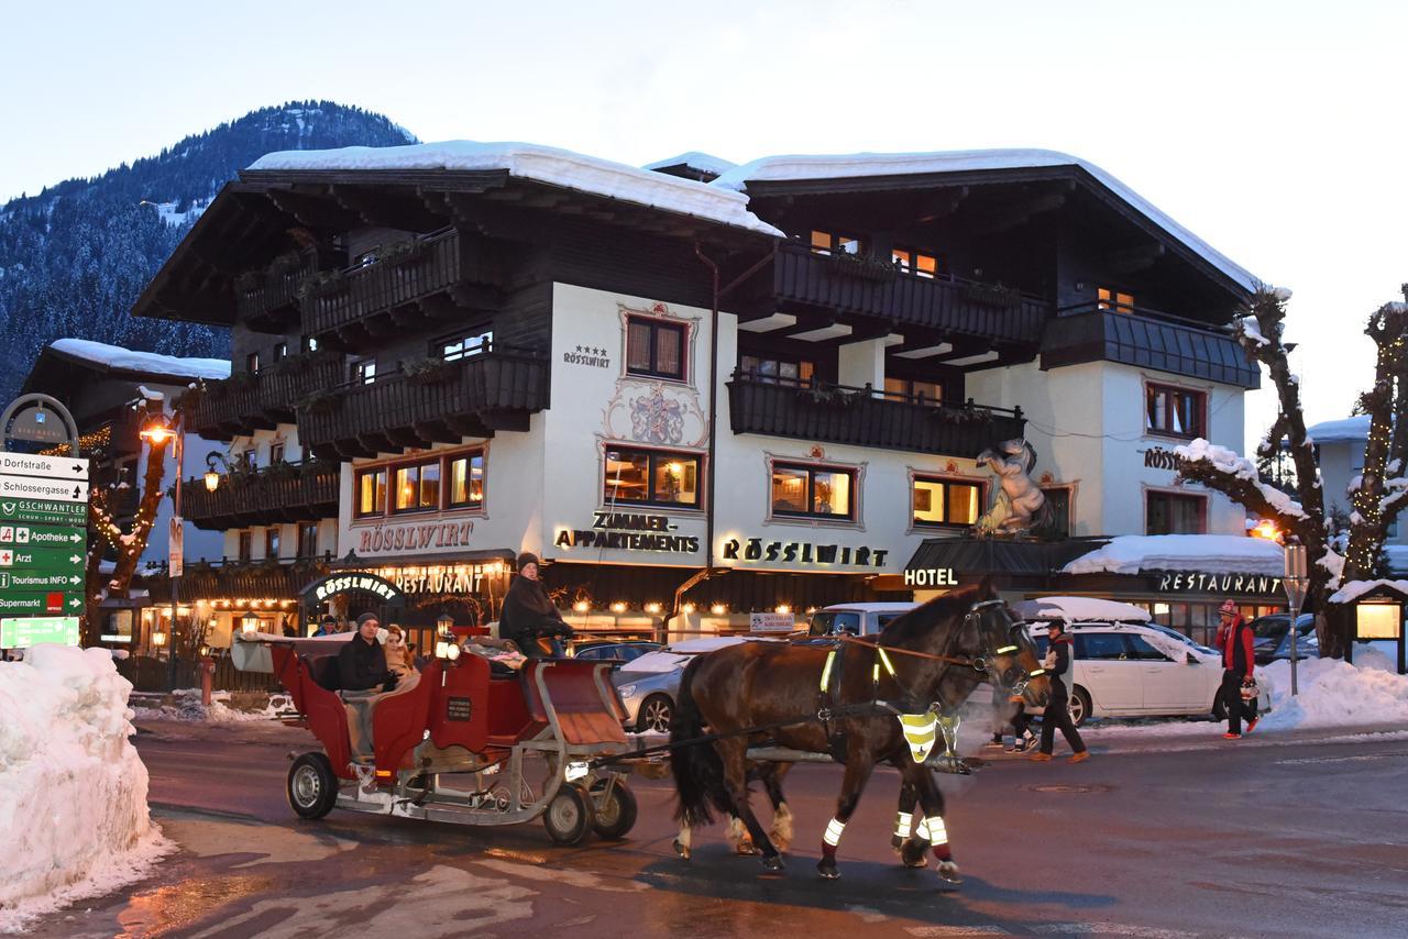
<svg viewBox="0 0 1408 939">
<path fill-rule="evenodd" d="M 919 714 L 931 705 L 953 712 L 984 679 L 1019 690 L 1029 705 L 1043 707 L 1049 680 L 1031 639 L 986 581 L 895 618 L 880 634 L 879 649 L 884 653 L 857 642 L 839 646 L 831 664 L 839 680 L 826 701 L 819 700 L 826 648 L 745 642 L 698 656 L 686 667 L 670 729 L 681 855 L 689 856 L 690 829 L 710 824 L 714 811 L 721 811 L 742 819 L 766 867 L 783 867 L 780 852 L 748 802 L 748 748 L 772 741 L 797 750 L 831 752 L 845 763 L 836 815 L 826 826 L 817 866 L 824 877 L 838 876 L 841 832 L 874 766 L 888 762 L 900 769 L 901 795 L 918 794 L 924 809 L 919 859 L 922 843 L 931 845 L 939 874 L 956 880 L 943 797 L 928 767 L 910 756 L 895 712 Z M 818 714 L 822 705 L 834 712 L 826 719 Z M 748 728 L 766 729 L 739 733 Z M 705 733 L 721 736 L 690 743 Z M 765 774 L 763 781 L 776 808 L 780 774 Z M 914 863 L 912 846 L 903 856 Z"/>
</svg>

